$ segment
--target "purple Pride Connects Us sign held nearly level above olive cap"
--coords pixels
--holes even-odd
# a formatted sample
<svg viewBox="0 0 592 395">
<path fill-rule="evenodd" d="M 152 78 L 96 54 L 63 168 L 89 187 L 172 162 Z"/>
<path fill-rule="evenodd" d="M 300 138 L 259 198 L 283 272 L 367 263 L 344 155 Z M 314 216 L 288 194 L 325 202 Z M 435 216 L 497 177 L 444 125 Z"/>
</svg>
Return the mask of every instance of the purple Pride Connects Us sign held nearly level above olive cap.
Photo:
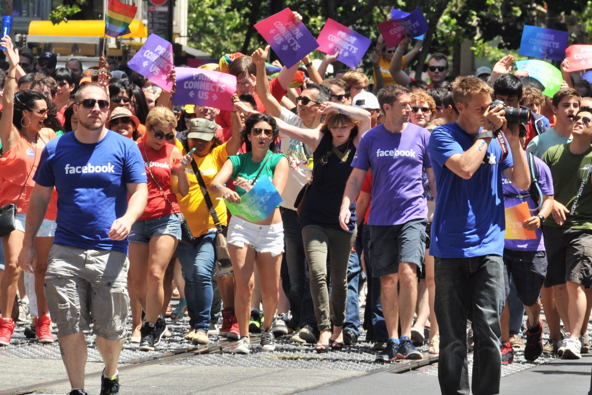
<svg viewBox="0 0 592 395">
<path fill-rule="evenodd" d="M 232 111 L 232 95 L 236 93 L 236 77 L 204 69 L 175 69 L 177 85 L 173 104 L 195 104 Z"/>
</svg>

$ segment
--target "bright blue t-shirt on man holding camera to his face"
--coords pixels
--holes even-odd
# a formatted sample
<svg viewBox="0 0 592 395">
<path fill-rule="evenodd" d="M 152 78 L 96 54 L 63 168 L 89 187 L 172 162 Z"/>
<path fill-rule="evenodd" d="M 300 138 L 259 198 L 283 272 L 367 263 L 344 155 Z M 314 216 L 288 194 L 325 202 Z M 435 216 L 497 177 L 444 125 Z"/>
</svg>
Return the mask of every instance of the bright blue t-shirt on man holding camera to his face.
<svg viewBox="0 0 592 395">
<path fill-rule="evenodd" d="M 473 139 L 474 136 L 456 122 L 436 127 L 430 136 L 429 150 L 437 190 L 430 245 L 432 256 L 503 255 L 506 219 L 501 174 L 514 165 L 511 151 L 498 165 L 481 163 L 469 179 L 461 178 L 444 166 L 452 155 L 468 150 Z M 487 153 L 497 162 L 501 158 L 500 144 L 491 140 Z"/>
</svg>

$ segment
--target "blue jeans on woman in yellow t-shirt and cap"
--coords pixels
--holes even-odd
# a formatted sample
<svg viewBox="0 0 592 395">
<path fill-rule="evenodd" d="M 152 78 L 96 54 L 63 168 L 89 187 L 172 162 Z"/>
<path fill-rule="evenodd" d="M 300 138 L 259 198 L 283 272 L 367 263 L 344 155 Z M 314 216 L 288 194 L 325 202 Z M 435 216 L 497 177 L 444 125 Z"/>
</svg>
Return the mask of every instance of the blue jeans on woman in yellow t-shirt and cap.
<svg viewBox="0 0 592 395">
<path fill-rule="evenodd" d="M 201 332 L 210 329 L 210 310 L 214 298 L 212 270 L 215 262 L 215 233 L 201 236 L 197 245 L 177 245 L 177 256 L 185 279 L 185 299 L 189 326 Z"/>
</svg>

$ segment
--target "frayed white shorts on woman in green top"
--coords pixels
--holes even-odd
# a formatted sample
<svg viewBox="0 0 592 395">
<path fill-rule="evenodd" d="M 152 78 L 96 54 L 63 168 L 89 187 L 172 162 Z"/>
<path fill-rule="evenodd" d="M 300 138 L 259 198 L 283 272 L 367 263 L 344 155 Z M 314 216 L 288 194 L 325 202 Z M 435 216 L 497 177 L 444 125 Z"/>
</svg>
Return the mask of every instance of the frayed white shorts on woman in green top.
<svg viewBox="0 0 592 395">
<path fill-rule="evenodd" d="M 258 225 L 233 216 L 228 224 L 227 240 L 239 248 L 246 243 L 258 253 L 271 252 L 271 256 L 278 256 L 284 252 L 284 224 Z"/>
</svg>

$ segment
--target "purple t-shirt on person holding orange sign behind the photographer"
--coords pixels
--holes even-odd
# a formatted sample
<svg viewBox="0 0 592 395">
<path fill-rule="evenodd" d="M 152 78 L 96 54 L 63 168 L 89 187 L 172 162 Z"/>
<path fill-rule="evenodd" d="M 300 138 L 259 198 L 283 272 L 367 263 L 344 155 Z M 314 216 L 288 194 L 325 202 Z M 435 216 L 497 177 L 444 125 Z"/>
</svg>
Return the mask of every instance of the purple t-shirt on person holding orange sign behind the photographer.
<svg viewBox="0 0 592 395">
<path fill-rule="evenodd" d="M 527 155 L 525 153 L 525 155 Z M 551 177 L 551 169 L 549 166 L 546 165 L 545 162 L 534 157 L 535 159 L 535 167 L 536 172 L 539 175 L 539 187 L 540 191 L 543 192 L 543 195 L 553 195 L 553 179 Z M 514 207 L 514 205 L 520 204 L 523 201 L 528 203 L 528 207 L 530 210 L 534 210 L 538 204 L 532 200 L 532 198 L 527 196 L 526 198 L 520 199 L 516 197 L 506 197 L 506 195 L 528 195 L 529 191 L 520 191 L 518 188 L 514 187 L 509 179 L 506 178 L 505 175 L 501 175 L 501 184 L 504 190 L 504 207 L 510 208 Z M 542 196 L 540 197 L 543 198 Z M 532 215 L 538 214 L 536 211 L 531 211 Z M 528 240 L 514 240 L 514 239 L 505 239 L 504 240 L 504 248 L 516 250 L 516 251 L 545 251 L 545 243 L 543 240 L 543 232 L 541 231 L 540 227 L 536 231 L 536 239 L 528 239 Z"/>
</svg>

